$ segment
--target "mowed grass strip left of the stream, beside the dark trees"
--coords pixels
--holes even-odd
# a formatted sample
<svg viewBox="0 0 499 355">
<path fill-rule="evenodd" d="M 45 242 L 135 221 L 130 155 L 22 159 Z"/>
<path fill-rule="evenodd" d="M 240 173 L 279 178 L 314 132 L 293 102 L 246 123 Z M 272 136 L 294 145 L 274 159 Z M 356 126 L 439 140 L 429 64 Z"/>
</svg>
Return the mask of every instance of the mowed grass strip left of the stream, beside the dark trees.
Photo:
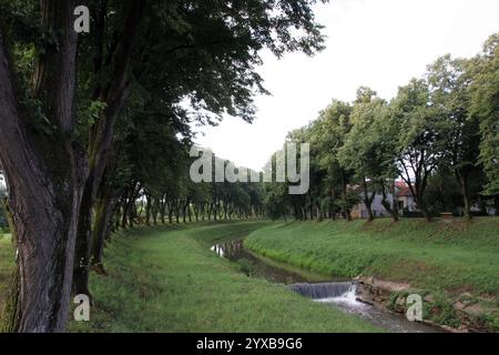
<svg viewBox="0 0 499 355">
<path fill-rule="evenodd" d="M 210 251 L 259 222 L 144 229 L 115 235 L 109 275 L 92 274 L 91 322 L 81 332 L 375 332 L 374 326 L 282 286 L 247 277 Z"/>
</svg>

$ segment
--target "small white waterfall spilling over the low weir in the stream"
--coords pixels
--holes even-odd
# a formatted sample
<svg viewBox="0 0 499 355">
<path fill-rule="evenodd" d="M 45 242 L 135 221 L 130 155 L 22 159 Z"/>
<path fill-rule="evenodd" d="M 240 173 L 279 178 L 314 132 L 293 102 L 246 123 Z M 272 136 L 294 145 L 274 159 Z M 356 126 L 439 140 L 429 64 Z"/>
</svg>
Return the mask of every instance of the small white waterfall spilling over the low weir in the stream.
<svg viewBox="0 0 499 355">
<path fill-rule="evenodd" d="M 329 282 L 320 284 L 294 284 L 291 290 L 313 300 L 352 297 L 355 300 L 355 283 Z"/>
</svg>

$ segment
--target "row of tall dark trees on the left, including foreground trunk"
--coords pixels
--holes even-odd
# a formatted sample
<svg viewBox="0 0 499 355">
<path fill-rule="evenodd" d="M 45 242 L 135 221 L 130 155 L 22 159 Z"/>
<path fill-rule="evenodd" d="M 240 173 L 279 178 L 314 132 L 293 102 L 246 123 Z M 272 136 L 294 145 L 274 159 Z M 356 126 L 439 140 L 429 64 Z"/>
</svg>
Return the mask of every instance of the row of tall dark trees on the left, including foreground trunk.
<svg viewBox="0 0 499 355">
<path fill-rule="evenodd" d="M 82 0 L 90 33 L 78 34 L 75 0 L 0 0 L 0 164 L 17 250 L 4 331 L 65 328 L 71 293 L 90 295 L 109 215 L 133 223 L 139 191 L 152 214 L 185 206 L 189 185 L 162 169 L 183 163 L 189 124 L 251 122 L 266 93 L 261 50 L 323 49 L 314 2 Z M 171 183 L 149 176 L 160 172 Z M 214 215 L 231 203 L 217 199 Z"/>
</svg>

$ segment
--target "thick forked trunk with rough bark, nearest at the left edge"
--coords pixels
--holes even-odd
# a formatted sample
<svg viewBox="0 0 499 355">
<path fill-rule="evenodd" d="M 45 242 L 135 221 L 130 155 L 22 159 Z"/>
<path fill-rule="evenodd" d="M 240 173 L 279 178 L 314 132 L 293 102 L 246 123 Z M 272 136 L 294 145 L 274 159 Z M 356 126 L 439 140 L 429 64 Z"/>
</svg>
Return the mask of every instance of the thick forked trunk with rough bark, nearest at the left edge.
<svg viewBox="0 0 499 355">
<path fill-rule="evenodd" d="M 74 1 L 42 1 L 42 26 L 57 36 L 34 78 L 34 94 L 55 126 L 34 133 L 21 112 L 8 50 L 0 30 L 0 162 L 9 182 L 17 247 L 16 304 L 7 331 L 62 332 L 72 283 L 85 154 L 73 141 L 77 33 Z M 13 315 L 13 316 L 12 316 Z"/>
</svg>

